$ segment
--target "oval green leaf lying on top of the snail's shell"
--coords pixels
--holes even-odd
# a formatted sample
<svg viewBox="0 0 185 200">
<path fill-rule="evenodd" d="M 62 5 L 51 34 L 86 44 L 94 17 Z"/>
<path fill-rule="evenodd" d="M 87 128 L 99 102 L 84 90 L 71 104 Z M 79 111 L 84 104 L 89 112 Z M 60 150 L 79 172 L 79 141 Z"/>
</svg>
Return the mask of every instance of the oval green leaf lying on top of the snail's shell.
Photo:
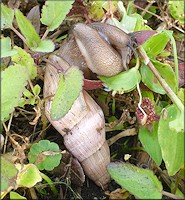
<svg viewBox="0 0 185 200">
<path fill-rule="evenodd" d="M 83 75 L 77 67 L 70 67 L 64 77 L 60 75 L 59 86 L 51 106 L 52 120 L 68 113 L 82 90 Z"/>
</svg>

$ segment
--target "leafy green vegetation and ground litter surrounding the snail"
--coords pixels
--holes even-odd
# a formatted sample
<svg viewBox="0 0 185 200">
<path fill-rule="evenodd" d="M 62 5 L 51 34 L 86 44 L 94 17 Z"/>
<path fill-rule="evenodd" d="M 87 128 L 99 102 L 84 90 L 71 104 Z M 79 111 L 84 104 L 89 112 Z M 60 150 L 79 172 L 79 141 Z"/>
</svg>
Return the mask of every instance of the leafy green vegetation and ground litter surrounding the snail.
<svg viewBox="0 0 185 200">
<path fill-rule="evenodd" d="M 183 8 L 184 1 L 171 0 L 1 3 L 2 198 L 86 198 L 79 192 L 85 186 L 73 182 L 79 164 L 45 117 L 43 77 L 48 55 L 67 37 L 66 30 L 94 21 L 137 32 L 138 45 L 128 70 L 98 76 L 104 88 L 89 92 L 105 114 L 107 170 L 110 186 L 118 184 L 99 190 L 105 199 L 184 198 Z M 69 111 L 88 81 L 75 67 L 59 73 L 54 120 Z"/>
</svg>

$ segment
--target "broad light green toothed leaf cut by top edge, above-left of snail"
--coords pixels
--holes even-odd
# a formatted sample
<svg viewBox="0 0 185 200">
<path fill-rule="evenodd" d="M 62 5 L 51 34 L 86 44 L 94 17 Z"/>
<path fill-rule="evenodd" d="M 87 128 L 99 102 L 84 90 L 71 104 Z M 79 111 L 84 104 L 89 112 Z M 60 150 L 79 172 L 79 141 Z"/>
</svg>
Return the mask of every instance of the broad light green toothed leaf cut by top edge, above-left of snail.
<svg viewBox="0 0 185 200">
<path fill-rule="evenodd" d="M 72 1 L 46 1 L 42 8 L 41 22 L 48 26 L 48 31 L 54 31 L 65 19 L 72 8 Z"/>
</svg>

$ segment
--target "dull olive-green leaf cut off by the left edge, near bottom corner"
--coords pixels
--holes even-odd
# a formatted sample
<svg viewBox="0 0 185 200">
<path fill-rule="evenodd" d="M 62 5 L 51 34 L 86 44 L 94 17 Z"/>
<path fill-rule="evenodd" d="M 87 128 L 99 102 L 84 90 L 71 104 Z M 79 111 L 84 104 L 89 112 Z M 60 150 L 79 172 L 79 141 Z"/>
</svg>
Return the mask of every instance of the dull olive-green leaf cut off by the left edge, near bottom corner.
<svg viewBox="0 0 185 200">
<path fill-rule="evenodd" d="M 9 192 L 16 187 L 17 173 L 15 165 L 5 156 L 1 156 L 1 192 Z"/>
</svg>

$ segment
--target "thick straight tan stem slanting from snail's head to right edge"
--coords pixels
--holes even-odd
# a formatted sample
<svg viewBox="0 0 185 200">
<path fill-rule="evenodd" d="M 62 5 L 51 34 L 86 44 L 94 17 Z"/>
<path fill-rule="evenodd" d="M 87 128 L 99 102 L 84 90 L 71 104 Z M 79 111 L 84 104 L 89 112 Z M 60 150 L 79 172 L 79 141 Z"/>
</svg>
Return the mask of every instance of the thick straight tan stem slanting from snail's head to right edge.
<svg viewBox="0 0 185 200">
<path fill-rule="evenodd" d="M 159 83 L 161 84 L 161 86 L 166 91 L 166 94 L 168 95 L 168 97 L 172 100 L 172 102 L 174 104 L 176 104 L 176 106 L 178 107 L 178 109 L 181 112 L 184 112 L 184 106 L 183 106 L 181 100 L 177 97 L 177 95 L 169 87 L 169 85 L 166 83 L 166 81 L 161 77 L 161 75 L 159 74 L 159 72 L 157 71 L 157 69 L 155 68 L 155 66 L 153 65 L 153 63 L 150 61 L 149 57 L 147 56 L 147 54 L 146 54 L 146 52 L 145 52 L 145 50 L 143 49 L 142 46 L 138 47 L 138 52 L 139 52 L 141 58 L 144 60 L 144 63 L 146 65 L 148 65 L 148 67 L 151 69 L 151 71 L 153 72 L 153 74 L 156 76 L 157 80 L 159 81 Z"/>
</svg>

